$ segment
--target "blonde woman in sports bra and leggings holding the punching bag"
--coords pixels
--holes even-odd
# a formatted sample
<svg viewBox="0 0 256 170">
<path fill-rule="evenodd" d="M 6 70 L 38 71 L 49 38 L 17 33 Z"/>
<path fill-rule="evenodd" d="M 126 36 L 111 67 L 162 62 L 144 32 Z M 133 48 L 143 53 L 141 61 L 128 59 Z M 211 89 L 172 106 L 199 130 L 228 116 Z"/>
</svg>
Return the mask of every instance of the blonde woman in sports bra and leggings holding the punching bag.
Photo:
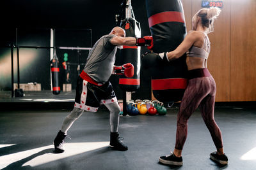
<svg viewBox="0 0 256 170">
<path fill-rule="evenodd" d="M 188 32 L 184 41 L 172 52 L 159 53 L 162 59 L 168 61 L 178 59 L 187 53 L 188 66 L 188 87 L 177 115 L 175 149 L 170 155 L 159 157 L 159 161 L 163 164 L 182 166 L 181 153 L 188 134 L 188 119 L 198 106 L 217 150 L 210 154 L 210 158 L 223 165 L 228 163 L 228 158 L 223 152 L 221 131 L 214 120 L 216 83 L 207 69 L 210 52 L 207 34 L 213 31 L 213 22 L 219 14 L 219 8 L 199 10 L 193 17 L 192 31 Z"/>
</svg>

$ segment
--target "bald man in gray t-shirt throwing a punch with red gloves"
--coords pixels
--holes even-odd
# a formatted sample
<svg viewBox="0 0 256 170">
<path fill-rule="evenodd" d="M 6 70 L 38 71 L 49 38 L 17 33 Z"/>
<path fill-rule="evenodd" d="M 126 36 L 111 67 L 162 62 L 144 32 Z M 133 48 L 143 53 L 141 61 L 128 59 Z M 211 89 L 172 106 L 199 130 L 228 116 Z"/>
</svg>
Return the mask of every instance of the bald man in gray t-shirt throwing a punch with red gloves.
<svg viewBox="0 0 256 170">
<path fill-rule="evenodd" d="M 115 54 L 118 46 L 150 46 L 153 39 L 150 36 L 144 38 L 125 38 L 125 31 L 121 27 L 114 27 L 112 31 L 102 36 L 93 45 L 88 55 L 86 66 L 77 78 L 76 99 L 72 112 L 65 118 L 63 125 L 54 139 L 56 152 L 64 152 L 63 143 L 67 131 L 79 118 L 83 111 L 96 112 L 100 104 L 104 104 L 110 111 L 110 144 L 115 150 L 127 150 L 128 147 L 118 138 L 118 124 L 120 107 L 117 103 L 115 92 L 109 82 L 112 73 L 125 74 L 132 77 L 133 66 L 131 63 L 123 66 L 114 66 Z"/>
</svg>

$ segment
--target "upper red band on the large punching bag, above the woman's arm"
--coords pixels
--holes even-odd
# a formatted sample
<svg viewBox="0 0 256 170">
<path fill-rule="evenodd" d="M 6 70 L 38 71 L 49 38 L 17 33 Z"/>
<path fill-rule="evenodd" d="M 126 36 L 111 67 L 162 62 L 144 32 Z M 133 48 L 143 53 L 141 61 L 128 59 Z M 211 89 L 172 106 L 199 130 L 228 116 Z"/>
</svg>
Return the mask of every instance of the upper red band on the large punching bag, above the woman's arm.
<svg viewBox="0 0 256 170">
<path fill-rule="evenodd" d="M 163 22 L 181 22 L 185 23 L 184 15 L 179 11 L 165 11 L 156 13 L 148 18 L 149 27 Z"/>
</svg>

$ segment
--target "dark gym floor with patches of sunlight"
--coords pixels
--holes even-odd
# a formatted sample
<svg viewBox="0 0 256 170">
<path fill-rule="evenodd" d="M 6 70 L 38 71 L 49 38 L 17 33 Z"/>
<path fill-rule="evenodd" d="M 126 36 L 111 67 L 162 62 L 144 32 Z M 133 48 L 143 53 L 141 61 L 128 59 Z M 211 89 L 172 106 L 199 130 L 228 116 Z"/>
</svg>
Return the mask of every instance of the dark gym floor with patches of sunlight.
<svg viewBox="0 0 256 170">
<path fill-rule="evenodd" d="M 109 148 L 109 113 L 101 106 L 97 113 L 84 113 L 68 131 L 71 139 L 66 138 L 66 151 L 54 153 L 52 141 L 73 103 L 25 103 L 17 98 L 1 99 L 0 169 L 233 170 L 256 167 L 254 102 L 216 103 L 215 119 L 223 134 L 227 166 L 209 159 L 209 153 L 215 151 L 214 144 L 199 110 L 196 110 L 189 119 L 183 166 L 177 167 L 160 164 L 158 157 L 168 155 L 175 145 L 179 106 L 168 108 L 164 116 L 120 117 L 118 132 L 129 147 L 125 152 Z"/>
</svg>

